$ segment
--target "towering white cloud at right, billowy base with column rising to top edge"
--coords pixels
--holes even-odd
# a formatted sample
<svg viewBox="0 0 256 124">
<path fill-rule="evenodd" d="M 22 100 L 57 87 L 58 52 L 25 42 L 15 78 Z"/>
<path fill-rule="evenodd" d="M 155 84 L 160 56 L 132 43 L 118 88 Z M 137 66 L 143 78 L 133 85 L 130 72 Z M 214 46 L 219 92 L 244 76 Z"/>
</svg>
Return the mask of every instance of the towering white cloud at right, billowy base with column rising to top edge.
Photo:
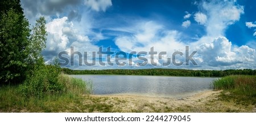
<svg viewBox="0 0 256 124">
<path fill-rule="evenodd" d="M 246 45 L 232 45 L 225 37 L 226 28 L 240 20 L 243 6 L 233 1 L 202 2 L 199 6 L 207 15 L 204 24 L 207 35 L 191 45 L 198 50 L 200 65 L 213 69 L 254 69 L 255 49 Z"/>
</svg>

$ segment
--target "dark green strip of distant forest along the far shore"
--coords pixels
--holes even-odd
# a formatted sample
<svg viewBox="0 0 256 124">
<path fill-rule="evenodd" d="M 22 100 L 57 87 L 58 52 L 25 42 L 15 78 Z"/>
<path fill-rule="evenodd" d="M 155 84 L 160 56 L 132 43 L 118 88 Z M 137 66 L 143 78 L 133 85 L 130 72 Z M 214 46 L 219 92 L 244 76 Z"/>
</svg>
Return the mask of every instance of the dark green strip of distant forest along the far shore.
<svg viewBox="0 0 256 124">
<path fill-rule="evenodd" d="M 256 70 L 184 70 L 184 69 L 112 69 L 112 70 L 71 70 L 63 68 L 69 75 L 78 74 L 105 74 L 105 75 L 165 75 L 165 76 L 206 76 L 222 77 L 228 75 L 256 75 Z"/>
</svg>

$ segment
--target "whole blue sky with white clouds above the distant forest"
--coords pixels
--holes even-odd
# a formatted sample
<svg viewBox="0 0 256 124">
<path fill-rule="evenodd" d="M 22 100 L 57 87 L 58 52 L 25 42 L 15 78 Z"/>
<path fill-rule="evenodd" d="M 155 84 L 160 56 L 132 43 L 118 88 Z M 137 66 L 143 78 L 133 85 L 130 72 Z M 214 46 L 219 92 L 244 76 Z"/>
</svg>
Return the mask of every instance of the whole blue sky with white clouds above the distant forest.
<svg viewBox="0 0 256 124">
<path fill-rule="evenodd" d="M 63 67 L 75 70 L 256 69 L 254 0 L 21 0 L 21 3 L 31 27 L 40 16 L 46 18 L 48 35 L 42 54 L 47 64 L 66 52 L 61 54 L 62 59 L 59 57 L 60 62 L 66 62 L 63 57 L 68 58 Z M 100 57 L 97 54 L 100 48 L 103 53 L 109 48 L 114 54 Z M 80 52 L 81 57 L 72 55 L 72 50 Z M 94 59 L 93 52 L 96 52 Z M 127 58 L 118 61 L 123 65 L 117 63 L 117 55 L 119 59 Z M 88 63 L 96 60 L 96 64 L 87 65 L 85 59 Z"/>
</svg>

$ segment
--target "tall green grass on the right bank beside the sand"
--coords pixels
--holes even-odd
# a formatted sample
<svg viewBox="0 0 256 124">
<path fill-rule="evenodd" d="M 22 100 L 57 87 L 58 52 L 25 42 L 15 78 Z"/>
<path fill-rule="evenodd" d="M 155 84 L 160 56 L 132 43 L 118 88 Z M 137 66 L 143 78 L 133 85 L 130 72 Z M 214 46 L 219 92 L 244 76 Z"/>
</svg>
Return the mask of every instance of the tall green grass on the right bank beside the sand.
<svg viewBox="0 0 256 124">
<path fill-rule="evenodd" d="M 213 82 L 214 89 L 223 89 L 220 100 L 242 105 L 256 105 L 256 76 L 230 75 Z"/>
</svg>

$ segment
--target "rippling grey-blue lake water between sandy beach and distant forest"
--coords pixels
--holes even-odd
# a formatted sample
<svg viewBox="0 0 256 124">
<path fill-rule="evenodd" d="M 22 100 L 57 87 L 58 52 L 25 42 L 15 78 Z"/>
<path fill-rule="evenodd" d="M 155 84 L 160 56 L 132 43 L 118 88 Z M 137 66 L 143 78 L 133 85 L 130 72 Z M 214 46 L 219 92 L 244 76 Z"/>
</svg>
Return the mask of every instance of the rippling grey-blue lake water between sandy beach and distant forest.
<svg viewBox="0 0 256 124">
<path fill-rule="evenodd" d="M 127 94 L 160 97 L 183 97 L 210 89 L 217 78 L 134 75 L 72 75 L 91 80 L 95 95 Z"/>
</svg>

